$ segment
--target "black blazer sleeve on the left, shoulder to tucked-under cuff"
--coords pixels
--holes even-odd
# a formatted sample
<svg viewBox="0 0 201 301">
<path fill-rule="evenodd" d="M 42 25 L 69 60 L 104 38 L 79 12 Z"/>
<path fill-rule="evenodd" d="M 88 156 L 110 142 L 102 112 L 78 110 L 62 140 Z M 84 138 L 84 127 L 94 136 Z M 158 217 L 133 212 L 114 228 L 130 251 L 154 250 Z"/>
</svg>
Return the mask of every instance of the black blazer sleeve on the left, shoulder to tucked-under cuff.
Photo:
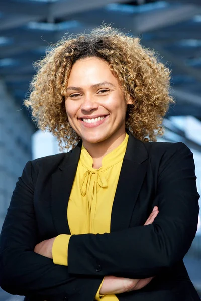
<svg viewBox="0 0 201 301">
<path fill-rule="evenodd" d="M 93 301 L 103 277 L 70 275 L 68 267 L 34 252 L 38 241 L 29 161 L 16 183 L 0 236 L 0 286 L 37 300 Z"/>
</svg>

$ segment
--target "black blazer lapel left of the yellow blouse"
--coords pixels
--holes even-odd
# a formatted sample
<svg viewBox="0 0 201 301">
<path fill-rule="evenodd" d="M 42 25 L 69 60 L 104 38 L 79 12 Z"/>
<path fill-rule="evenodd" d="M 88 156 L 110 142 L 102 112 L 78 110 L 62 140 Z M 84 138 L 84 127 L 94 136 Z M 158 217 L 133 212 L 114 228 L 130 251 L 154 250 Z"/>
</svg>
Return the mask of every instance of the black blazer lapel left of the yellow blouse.
<svg viewBox="0 0 201 301">
<path fill-rule="evenodd" d="M 67 220 L 67 206 L 80 157 L 82 141 L 52 174 L 51 210 L 58 234 L 71 234 Z"/>
</svg>

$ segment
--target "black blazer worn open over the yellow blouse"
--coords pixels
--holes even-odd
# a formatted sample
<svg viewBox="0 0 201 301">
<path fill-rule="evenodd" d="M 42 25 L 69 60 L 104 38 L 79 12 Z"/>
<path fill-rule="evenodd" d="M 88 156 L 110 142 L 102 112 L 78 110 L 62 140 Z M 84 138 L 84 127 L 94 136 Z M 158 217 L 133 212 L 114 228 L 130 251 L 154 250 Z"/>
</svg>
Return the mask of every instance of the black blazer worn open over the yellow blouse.
<svg viewBox="0 0 201 301">
<path fill-rule="evenodd" d="M 26 300 L 93 301 L 105 275 L 155 278 L 120 301 L 200 300 L 183 264 L 195 236 L 198 199 L 193 155 L 181 143 L 141 142 L 129 132 L 114 198 L 111 233 L 72 235 L 68 267 L 33 252 L 70 234 L 67 205 L 81 142 L 29 161 L 16 184 L 0 241 L 0 285 Z M 143 226 L 153 207 L 159 214 Z"/>
</svg>

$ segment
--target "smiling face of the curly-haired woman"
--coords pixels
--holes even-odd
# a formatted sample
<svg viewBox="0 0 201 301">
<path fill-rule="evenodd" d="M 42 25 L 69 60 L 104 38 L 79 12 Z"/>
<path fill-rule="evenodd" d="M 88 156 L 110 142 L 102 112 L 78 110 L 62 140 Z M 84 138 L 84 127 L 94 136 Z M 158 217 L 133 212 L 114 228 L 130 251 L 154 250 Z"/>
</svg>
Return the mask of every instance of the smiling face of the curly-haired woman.
<svg viewBox="0 0 201 301">
<path fill-rule="evenodd" d="M 72 67 L 65 97 L 68 121 L 83 144 L 118 139 L 125 133 L 126 106 L 117 78 L 106 61 L 90 57 Z"/>
</svg>

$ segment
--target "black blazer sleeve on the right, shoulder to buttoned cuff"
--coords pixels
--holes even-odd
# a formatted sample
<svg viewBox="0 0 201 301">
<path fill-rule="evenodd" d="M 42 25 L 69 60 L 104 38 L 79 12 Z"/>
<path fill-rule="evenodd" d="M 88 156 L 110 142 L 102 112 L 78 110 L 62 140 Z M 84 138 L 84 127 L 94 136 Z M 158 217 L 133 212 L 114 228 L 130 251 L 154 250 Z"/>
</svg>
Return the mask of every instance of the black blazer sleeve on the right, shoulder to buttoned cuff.
<svg viewBox="0 0 201 301">
<path fill-rule="evenodd" d="M 111 233 L 72 235 L 69 272 L 138 279 L 155 276 L 182 260 L 198 223 L 194 170 L 190 149 L 182 142 L 172 143 L 160 159 L 157 192 L 150 200 L 159 207 L 154 222 Z"/>
</svg>

